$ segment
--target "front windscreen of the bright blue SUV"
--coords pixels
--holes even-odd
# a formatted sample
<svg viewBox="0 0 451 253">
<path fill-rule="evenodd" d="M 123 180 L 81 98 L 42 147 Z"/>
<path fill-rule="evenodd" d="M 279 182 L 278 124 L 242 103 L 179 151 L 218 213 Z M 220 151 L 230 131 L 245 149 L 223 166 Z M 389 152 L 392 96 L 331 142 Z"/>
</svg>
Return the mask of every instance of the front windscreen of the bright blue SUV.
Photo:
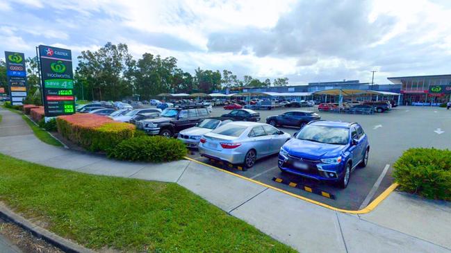
<svg viewBox="0 0 451 253">
<path fill-rule="evenodd" d="M 306 125 L 297 133 L 296 138 L 319 143 L 346 145 L 349 142 L 349 129 Z"/>
</svg>

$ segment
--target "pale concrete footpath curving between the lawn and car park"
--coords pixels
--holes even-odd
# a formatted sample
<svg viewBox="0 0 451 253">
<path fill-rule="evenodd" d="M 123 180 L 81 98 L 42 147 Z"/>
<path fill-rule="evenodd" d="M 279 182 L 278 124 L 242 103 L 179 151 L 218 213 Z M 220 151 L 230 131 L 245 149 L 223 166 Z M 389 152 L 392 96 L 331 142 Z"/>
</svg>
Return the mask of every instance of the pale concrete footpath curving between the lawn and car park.
<svg viewBox="0 0 451 253">
<path fill-rule="evenodd" d="M 299 252 L 451 252 L 450 203 L 393 192 L 370 213 L 341 213 L 196 162 L 118 162 L 49 146 L 24 130 L 19 115 L 3 108 L 0 114 L 3 154 L 82 173 L 175 182 Z"/>
</svg>

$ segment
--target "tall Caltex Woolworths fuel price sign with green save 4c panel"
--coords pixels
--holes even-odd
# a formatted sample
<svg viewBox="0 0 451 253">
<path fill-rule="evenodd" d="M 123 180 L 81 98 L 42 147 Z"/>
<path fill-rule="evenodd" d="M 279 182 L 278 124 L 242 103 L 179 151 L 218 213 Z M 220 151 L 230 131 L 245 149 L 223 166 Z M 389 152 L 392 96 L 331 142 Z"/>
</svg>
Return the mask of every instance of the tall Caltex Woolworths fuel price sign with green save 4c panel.
<svg viewBox="0 0 451 253">
<path fill-rule="evenodd" d="M 68 49 L 39 46 L 45 116 L 75 113 L 72 53 Z"/>
</svg>

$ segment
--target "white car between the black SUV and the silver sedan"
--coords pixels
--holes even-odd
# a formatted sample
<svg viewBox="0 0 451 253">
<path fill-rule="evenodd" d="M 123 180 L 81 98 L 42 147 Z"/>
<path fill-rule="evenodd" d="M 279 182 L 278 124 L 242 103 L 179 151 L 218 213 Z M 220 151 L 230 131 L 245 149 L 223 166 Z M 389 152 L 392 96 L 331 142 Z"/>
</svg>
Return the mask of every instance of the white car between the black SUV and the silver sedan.
<svg viewBox="0 0 451 253">
<path fill-rule="evenodd" d="M 199 146 L 200 138 L 207 132 L 211 132 L 222 125 L 232 122 L 230 119 L 222 118 L 208 118 L 201 121 L 199 124 L 186 130 L 181 130 L 177 139 L 186 143 L 190 148 L 197 148 Z"/>
</svg>

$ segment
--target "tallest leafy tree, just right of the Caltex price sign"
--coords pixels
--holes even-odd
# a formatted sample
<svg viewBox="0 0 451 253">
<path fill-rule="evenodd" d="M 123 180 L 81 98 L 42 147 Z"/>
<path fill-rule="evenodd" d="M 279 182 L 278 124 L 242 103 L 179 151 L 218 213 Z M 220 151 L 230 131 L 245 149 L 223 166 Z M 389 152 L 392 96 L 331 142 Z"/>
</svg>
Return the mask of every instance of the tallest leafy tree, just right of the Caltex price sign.
<svg viewBox="0 0 451 253">
<path fill-rule="evenodd" d="M 87 86 L 92 99 L 119 100 L 131 95 L 132 84 L 124 74 L 133 59 L 126 44 L 108 42 L 95 52 L 82 51 L 78 59 L 76 83 Z"/>
</svg>

